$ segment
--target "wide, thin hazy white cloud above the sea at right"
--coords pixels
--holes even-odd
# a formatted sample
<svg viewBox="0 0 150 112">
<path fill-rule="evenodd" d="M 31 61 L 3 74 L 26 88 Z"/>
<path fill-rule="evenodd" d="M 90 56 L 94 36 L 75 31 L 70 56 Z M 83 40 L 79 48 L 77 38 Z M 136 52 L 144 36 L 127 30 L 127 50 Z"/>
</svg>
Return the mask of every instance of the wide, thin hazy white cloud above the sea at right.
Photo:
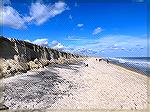
<svg viewBox="0 0 150 112">
<path fill-rule="evenodd" d="M 102 46 L 112 47 L 124 47 L 124 48 L 138 48 L 137 45 L 146 45 L 147 39 L 129 35 L 108 35 L 99 40 L 99 44 Z"/>
</svg>

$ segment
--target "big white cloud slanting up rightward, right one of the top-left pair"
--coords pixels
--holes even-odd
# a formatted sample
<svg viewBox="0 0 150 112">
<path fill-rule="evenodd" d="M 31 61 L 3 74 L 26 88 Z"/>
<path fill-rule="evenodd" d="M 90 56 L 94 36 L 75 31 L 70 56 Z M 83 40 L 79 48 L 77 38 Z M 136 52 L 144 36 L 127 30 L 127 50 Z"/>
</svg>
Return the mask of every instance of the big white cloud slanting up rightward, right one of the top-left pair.
<svg viewBox="0 0 150 112">
<path fill-rule="evenodd" d="M 53 5 L 45 5 L 40 2 L 32 3 L 30 8 L 30 16 L 26 17 L 26 20 L 34 21 L 37 25 L 40 25 L 47 21 L 49 18 L 55 17 L 65 10 L 67 10 L 67 5 L 61 1 Z"/>
</svg>

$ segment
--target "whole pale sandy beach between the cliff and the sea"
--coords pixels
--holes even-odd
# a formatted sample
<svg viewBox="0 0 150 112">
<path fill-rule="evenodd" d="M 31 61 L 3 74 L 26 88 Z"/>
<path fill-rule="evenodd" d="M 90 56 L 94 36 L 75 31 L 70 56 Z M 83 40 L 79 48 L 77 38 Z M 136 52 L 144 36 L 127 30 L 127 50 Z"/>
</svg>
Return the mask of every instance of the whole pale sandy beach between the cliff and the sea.
<svg viewBox="0 0 150 112">
<path fill-rule="evenodd" d="M 10 109 L 147 109 L 147 80 L 88 58 L 4 79 L 4 104 Z"/>
</svg>

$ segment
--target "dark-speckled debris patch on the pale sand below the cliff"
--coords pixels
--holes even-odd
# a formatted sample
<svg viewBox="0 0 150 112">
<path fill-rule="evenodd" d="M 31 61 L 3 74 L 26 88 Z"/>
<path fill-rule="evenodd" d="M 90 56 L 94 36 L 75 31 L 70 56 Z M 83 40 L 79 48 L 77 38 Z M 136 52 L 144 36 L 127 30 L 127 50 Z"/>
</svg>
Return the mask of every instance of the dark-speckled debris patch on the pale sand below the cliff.
<svg viewBox="0 0 150 112">
<path fill-rule="evenodd" d="M 77 70 L 69 65 L 57 67 Z M 63 95 L 71 95 L 75 85 L 60 77 L 54 68 L 21 75 L 17 80 L 4 84 L 4 101 L 10 109 L 43 109 L 51 107 Z"/>
</svg>

